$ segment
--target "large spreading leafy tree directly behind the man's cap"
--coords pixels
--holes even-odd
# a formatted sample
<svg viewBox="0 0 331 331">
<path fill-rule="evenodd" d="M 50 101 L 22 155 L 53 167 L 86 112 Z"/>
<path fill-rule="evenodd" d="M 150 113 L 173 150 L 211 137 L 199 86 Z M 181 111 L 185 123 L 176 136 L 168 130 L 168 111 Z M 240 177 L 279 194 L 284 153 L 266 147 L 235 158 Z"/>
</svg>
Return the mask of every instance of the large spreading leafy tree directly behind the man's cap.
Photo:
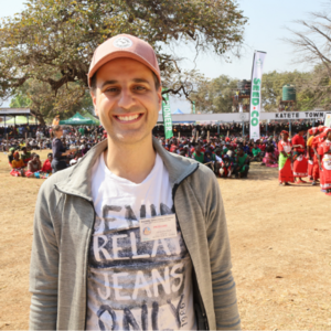
<svg viewBox="0 0 331 331">
<path fill-rule="evenodd" d="M 22 13 L 0 26 L 0 98 L 32 78 L 50 87 L 63 111 L 61 88 L 75 83 L 83 97 L 94 50 L 119 33 L 148 41 L 163 85 L 189 97 L 194 71 L 182 71 L 181 58 L 164 45 L 193 44 L 196 55 L 238 54 L 246 22 L 236 0 L 28 0 Z"/>
</svg>

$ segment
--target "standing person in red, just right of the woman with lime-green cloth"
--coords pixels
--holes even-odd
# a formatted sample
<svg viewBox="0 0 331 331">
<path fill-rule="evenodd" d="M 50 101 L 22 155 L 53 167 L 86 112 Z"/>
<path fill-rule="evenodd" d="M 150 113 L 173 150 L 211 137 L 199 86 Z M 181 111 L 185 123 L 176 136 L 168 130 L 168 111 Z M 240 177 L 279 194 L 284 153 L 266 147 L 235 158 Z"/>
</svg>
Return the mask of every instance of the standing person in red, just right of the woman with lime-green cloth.
<svg viewBox="0 0 331 331">
<path fill-rule="evenodd" d="M 303 127 L 299 128 L 298 134 L 292 138 L 292 148 L 293 148 L 293 175 L 297 179 L 297 183 L 306 183 L 302 180 L 302 177 L 308 175 L 308 160 L 305 156 L 305 139 L 303 139 L 305 129 Z"/>
</svg>

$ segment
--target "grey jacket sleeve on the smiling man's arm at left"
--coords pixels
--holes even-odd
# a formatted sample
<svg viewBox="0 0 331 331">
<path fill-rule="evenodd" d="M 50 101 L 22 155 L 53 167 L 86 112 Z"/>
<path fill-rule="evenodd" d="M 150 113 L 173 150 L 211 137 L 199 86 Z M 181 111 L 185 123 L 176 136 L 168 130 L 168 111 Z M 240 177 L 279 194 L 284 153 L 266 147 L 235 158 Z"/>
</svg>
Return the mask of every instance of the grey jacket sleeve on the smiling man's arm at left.
<svg viewBox="0 0 331 331">
<path fill-rule="evenodd" d="M 49 200 L 45 199 L 45 183 L 40 190 L 34 214 L 30 265 L 30 330 L 56 330 L 58 243 Z M 54 196 L 51 199 L 55 200 Z"/>
</svg>

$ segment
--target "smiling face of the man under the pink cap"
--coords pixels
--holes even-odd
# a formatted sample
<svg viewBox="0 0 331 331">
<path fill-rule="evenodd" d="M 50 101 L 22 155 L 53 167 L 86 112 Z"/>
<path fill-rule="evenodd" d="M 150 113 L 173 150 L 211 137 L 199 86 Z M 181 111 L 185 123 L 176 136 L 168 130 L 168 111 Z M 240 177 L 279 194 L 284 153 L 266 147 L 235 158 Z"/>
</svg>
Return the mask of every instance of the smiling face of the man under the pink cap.
<svg viewBox="0 0 331 331">
<path fill-rule="evenodd" d="M 131 58 L 106 63 L 98 70 L 92 98 L 111 140 L 131 145 L 151 137 L 162 96 L 146 65 Z"/>
</svg>

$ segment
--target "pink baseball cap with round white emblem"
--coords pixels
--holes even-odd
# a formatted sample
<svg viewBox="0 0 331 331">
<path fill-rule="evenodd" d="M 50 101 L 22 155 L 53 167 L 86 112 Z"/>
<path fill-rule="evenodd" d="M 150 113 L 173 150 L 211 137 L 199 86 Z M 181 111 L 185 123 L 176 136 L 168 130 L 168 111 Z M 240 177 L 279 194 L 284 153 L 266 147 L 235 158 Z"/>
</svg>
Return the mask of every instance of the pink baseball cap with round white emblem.
<svg viewBox="0 0 331 331">
<path fill-rule="evenodd" d="M 90 78 L 99 67 L 119 57 L 134 58 L 145 64 L 157 75 L 161 84 L 160 68 L 152 46 L 137 36 L 118 34 L 106 40 L 95 50 L 87 74 L 88 86 L 90 87 Z"/>
</svg>

